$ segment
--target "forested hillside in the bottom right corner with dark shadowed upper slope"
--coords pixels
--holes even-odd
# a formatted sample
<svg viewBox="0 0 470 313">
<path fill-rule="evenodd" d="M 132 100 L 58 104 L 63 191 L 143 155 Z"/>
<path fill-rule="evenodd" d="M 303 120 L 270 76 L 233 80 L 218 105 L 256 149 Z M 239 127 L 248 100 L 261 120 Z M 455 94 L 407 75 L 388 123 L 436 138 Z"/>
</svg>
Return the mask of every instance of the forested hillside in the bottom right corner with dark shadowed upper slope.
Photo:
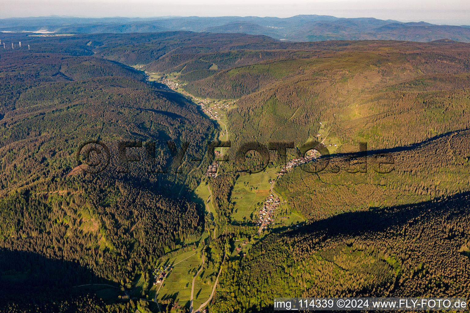
<svg viewBox="0 0 470 313">
<path fill-rule="evenodd" d="M 467 192 L 269 234 L 224 268 L 213 309 L 272 312 L 277 297 L 467 297 L 469 210 Z"/>
</svg>

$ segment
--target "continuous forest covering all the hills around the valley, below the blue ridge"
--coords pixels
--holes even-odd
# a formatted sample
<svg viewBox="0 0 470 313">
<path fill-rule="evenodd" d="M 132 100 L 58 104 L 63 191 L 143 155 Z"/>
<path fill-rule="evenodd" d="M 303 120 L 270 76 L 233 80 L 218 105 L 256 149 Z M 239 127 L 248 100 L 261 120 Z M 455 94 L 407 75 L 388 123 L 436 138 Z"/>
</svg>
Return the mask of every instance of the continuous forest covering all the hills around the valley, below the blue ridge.
<svg viewBox="0 0 470 313">
<path fill-rule="evenodd" d="M 103 302 L 68 291 L 100 282 L 118 287 L 122 300 L 141 282 L 136 298 L 153 298 L 148 269 L 165 253 L 196 250 L 208 229 L 214 240 L 198 244 L 208 246 L 202 255 L 217 251 L 216 312 L 270 312 L 273 295 L 468 297 L 470 44 L 189 31 L 31 35 L 4 34 L 2 41 L 22 47 L 0 49 L 0 262 L 18 264 L 1 277 L 31 281 L 12 288 L 13 296 L 0 293 L 3 312 L 135 312 L 127 298 Z M 229 103 L 220 120 L 227 133 L 189 100 L 196 98 L 145 82 L 150 76 L 177 82 L 198 102 Z M 216 137 L 231 141 L 231 161 L 204 178 L 207 198 L 190 199 Z M 94 143 L 77 161 L 89 140 L 112 152 L 98 175 L 76 168 L 101 149 Z M 128 158 L 117 157 L 121 141 L 135 145 Z M 257 216 L 235 219 L 243 196 L 232 198 L 241 177 L 235 151 L 253 141 L 292 142 L 289 160 L 305 143 L 328 149 L 266 183 L 296 225 L 274 218 L 258 232 Z M 106 163 L 100 151 L 95 164 Z M 323 171 L 308 172 L 324 160 Z M 250 203 L 258 215 L 260 203 Z M 214 211 L 204 214 L 209 204 Z M 241 238 L 250 241 L 238 247 L 246 256 L 235 252 Z M 27 267 L 31 260 L 39 266 Z M 30 278 L 53 267 L 80 279 L 46 290 L 50 279 Z M 193 269 L 180 274 L 192 279 Z M 68 296 L 51 296 L 66 286 L 60 292 Z"/>
</svg>

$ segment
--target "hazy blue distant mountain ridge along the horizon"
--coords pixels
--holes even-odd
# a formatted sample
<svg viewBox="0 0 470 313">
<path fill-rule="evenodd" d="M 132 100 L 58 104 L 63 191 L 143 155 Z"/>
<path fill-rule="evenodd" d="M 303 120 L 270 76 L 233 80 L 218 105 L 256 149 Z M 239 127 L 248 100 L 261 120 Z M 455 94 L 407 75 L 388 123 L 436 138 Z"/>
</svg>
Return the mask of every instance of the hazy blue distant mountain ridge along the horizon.
<svg viewBox="0 0 470 313">
<path fill-rule="evenodd" d="M 0 19 L 2 32 L 131 33 L 195 31 L 266 35 L 287 41 L 439 39 L 470 42 L 470 26 L 403 23 L 376 18 L 339 18 L 330 15 L 296 15 L 288 18 L 258 16 L 78 18 L 25 17 Z"/>
</svg>

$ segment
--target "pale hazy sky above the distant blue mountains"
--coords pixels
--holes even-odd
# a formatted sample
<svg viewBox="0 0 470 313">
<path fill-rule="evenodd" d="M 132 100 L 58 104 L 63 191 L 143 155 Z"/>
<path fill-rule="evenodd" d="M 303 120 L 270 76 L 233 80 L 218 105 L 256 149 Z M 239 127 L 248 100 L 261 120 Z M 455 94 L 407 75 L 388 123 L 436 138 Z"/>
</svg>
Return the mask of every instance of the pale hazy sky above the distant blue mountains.
<svg viewBox="0 0 470 313">
<path fill-rule="evenodd" d="M 0 0 L 2 18 L 47 15 L 289 17 L 298 14 L 469 25 L 470 0 Z"/>
</svg>

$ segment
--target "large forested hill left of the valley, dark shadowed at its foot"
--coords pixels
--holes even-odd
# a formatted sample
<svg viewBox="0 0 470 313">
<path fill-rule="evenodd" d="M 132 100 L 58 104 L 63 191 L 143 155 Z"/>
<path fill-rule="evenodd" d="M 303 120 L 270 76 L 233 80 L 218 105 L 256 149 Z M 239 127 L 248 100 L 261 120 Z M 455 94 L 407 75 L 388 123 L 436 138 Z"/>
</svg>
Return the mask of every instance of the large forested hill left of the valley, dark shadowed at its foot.
<svg viewBox="0 0 470 313">
<path fill-rule="evenodd" d="M 202 162 L 178 161 L 167 142 L 178 150 L 188 142 L 187 157 L 203 159 L 215 125 L 141 72 L 57 50 L 1 54 L 0 263 L 9 288 L 0 311 L 135 311 L 128 300 L 118 302 L 121 288 L 204 229 L 203 208 L 175 192 L 183 183 L 194 188 L 203 174 L 176 170 L 187 174 Z M 89 144 L 76 157 L 90 140 L 109 154 Z M 143 146 L 126 154 L 142 161 L 126 173 L 119 143 L 136 141 Z M 88 162 L 87 149 L 109 155 L 108 168 L 94 175 L 77 168 Z M 87 283 L 110 284 L 117 294 L 103 302 L 73 288 Z"/>
</svg>

